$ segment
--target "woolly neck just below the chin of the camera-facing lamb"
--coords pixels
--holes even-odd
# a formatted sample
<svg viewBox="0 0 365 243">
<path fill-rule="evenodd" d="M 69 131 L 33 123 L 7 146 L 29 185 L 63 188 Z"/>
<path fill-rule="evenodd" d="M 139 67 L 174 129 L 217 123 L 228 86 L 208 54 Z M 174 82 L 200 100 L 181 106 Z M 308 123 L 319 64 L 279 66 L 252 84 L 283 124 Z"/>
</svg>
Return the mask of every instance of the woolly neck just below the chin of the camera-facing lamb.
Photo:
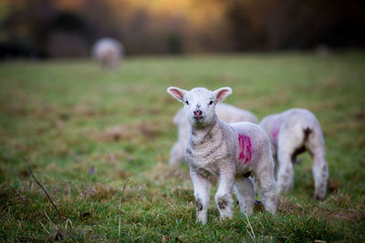
<svg viewBox="0 0 365 243">
<path fill-rule="evenodd" d="M 191 126 L 189 143 L 194 149 L 200 149 L 206 147 L 206 144 L 214 145 L 219 143 L 222 139 L 223 133 L 220 128 L 220 122 L 215 115 L 214 120 L 205 127 L 193 127 Z"/>
</svg>

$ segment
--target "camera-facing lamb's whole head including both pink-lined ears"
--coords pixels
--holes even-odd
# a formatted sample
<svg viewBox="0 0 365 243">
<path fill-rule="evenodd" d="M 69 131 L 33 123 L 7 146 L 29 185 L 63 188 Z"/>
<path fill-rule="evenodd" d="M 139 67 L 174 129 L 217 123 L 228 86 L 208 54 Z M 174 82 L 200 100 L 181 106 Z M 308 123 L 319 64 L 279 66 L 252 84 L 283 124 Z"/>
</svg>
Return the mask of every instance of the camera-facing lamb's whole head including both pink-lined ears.
<svg viewBox="0 0 365 243">
<path fill-rule="evenodd" d="M 230 87 L 210 91 L 204 87 L 194 87 L 187 91 L 171 86 L 167 89 L 178 101 L 183 102 L 185 115 L 194 127 L 205 127 L 214 120 L 215 105 L 232 94 Z"/>
</svg>

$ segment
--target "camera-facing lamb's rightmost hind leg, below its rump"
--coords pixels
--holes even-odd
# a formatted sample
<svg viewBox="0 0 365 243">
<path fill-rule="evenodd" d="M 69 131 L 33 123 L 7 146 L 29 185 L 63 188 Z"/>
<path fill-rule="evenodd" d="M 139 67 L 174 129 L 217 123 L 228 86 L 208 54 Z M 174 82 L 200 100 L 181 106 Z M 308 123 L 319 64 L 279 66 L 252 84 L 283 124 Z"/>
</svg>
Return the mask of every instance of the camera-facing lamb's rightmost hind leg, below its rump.
<svg viewBox="0 0 365 243">
<path fill-rule="evenodd" d="M 274 214 L 277 208 L 277 189 L 274 177 L 274 162 L 271 153 L 263 155 L 255 171 L 258 192 L 267 211 Z"/>
</svg>

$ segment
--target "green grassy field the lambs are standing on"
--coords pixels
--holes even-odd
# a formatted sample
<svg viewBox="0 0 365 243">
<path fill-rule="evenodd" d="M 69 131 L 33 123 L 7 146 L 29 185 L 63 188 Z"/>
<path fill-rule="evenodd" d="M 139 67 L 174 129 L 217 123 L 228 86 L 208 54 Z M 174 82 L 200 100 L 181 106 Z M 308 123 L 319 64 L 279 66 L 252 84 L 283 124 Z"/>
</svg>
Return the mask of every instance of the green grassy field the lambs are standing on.
<svg viewBox="0 0 365 243">
<path fill-rule="evenodd" d="M 213 189 L 208 223 L 195 224 L 189 169 L 168 167 L 177 137 L 172 116 L 183 106 L 168 86 L 231 86 L 225 102 L 260 119 L 310 109 L 328 150 L 325 200 L 312 197 L 311 161 L 303 155 L 275 216 L 256 206 L 251 230 L 235 205 L 235 217 L 220 221 Z M 89 61 L 5 62 L 0 241 L 364 242 L 364 147 L 363 52 L 134 57 L 116 72 Z"/>
</svg>

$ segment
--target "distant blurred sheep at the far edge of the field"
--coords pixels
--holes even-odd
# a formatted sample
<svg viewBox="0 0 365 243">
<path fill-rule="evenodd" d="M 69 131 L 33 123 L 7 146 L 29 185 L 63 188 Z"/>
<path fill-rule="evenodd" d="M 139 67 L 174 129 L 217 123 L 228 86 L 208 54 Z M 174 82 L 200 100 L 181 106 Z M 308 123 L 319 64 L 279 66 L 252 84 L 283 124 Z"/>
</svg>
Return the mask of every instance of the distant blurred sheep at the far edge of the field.
<svg viewBox="0 0 365 243">
<path fill-rule="evenodd" d="M 117 68 L 123 55 L 123 46 L 113 38 L 104 37 L 92 48 L 92 56 L 98 60 L 100 66 Z"/>
</svg>

